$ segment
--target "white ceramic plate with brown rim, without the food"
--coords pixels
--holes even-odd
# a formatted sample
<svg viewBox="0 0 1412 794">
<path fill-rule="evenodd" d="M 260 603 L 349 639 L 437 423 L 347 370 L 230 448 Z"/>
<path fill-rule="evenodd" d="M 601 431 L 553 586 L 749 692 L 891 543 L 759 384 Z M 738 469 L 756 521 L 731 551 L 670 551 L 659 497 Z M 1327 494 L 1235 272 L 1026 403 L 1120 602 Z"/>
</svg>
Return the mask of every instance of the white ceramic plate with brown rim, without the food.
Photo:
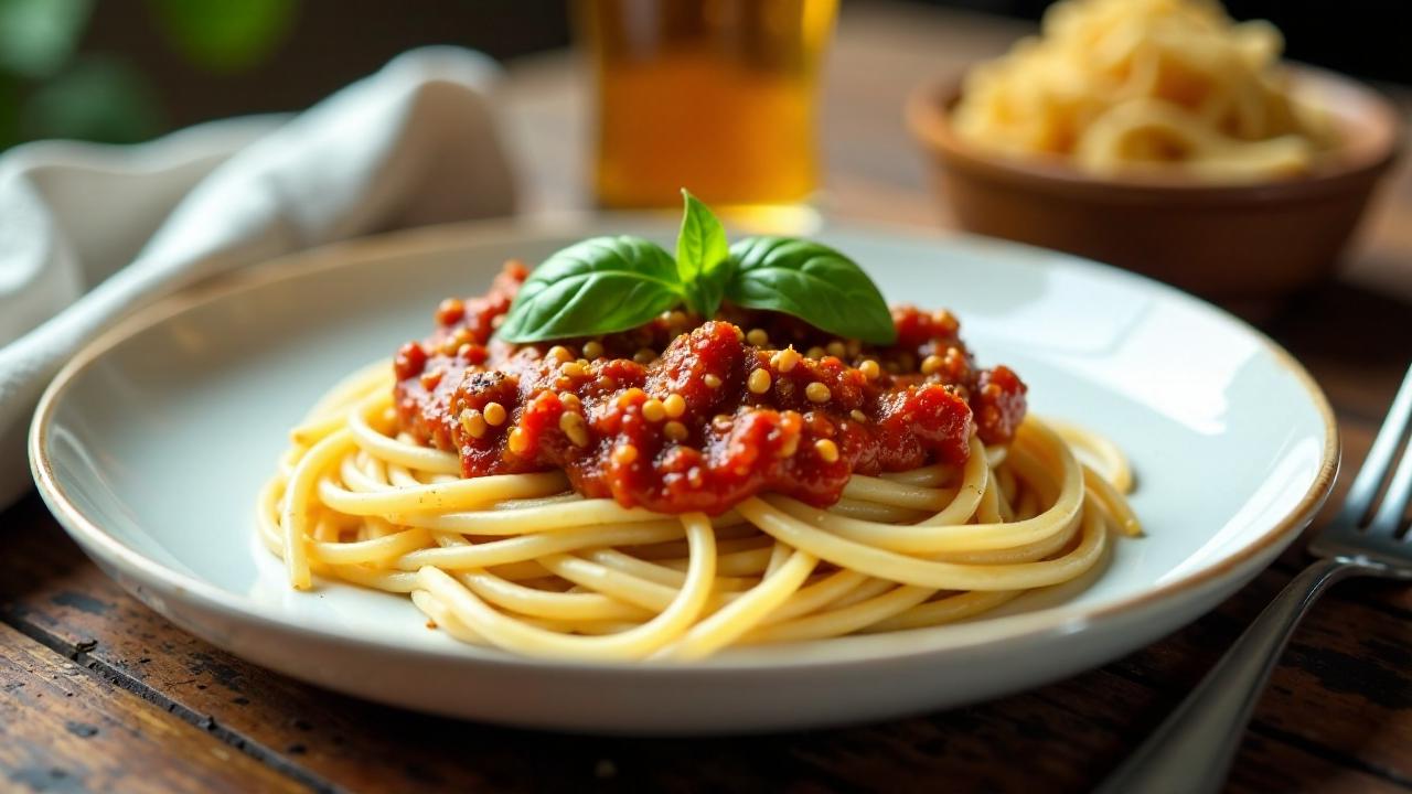
<svg viewBox="0 0 1412 794">
<path fill-rule="evenodd" d="M 1336 425 L 1284 350 L 1141 277 L 997 242 L 832 229 L 894 301 L 949 307 L 983 363 L 1014 366 L 1032 410 L 1132 458 L 1148 537 L 1087 586 L 895 634 L 723 653 L 696 664 L 528 661 L 425 627 L 404 596 L 287 589 L 254 540 L 254 499 L 288 428 L 339 377 L 431 328 L 446 295 L 508 257 L 592 233 L 480 225 L 325 249 L 169 301 L 99 339 L 31 434 L 49 507 L 110 575 L 179 626 L 281 672 L 408 708 L 579 730 L 820 726 L 995 697 L 1101 664 L 1254 576 L 1329 492 Z"/>
</svg>

